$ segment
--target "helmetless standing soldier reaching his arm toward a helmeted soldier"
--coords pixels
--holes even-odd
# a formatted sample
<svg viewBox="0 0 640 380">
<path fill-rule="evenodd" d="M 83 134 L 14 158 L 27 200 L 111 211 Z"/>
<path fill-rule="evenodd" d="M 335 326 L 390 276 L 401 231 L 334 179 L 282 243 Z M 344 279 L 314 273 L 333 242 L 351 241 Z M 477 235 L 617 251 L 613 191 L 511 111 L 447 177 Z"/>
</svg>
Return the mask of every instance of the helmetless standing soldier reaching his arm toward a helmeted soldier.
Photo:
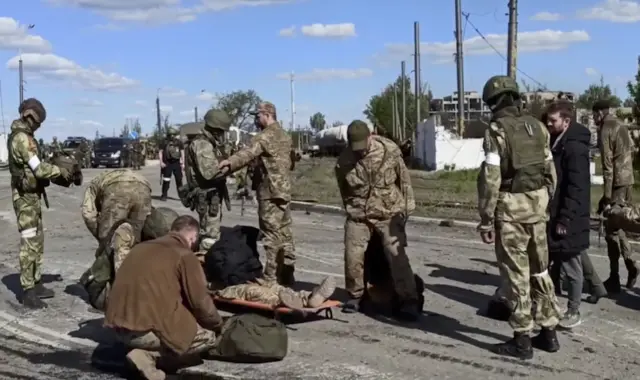
<svg viewBox="0 0 640 380">
<path fill-rule="evenodd" d="M 261 103 L 252 115 L 261 131 L 248 147 L 220 162 L 218 168 L 222 173 L 233 173 L 255 160 L 251 182 L 257 191 L 258 221 L 264 233 L 263 280 L 277 280 L 281 285 L 290 286 L 295 282 L 296 260 L 290 210 L 291 137 L 276 121 L 276 107 L 272 103 Z"/>
</svg>

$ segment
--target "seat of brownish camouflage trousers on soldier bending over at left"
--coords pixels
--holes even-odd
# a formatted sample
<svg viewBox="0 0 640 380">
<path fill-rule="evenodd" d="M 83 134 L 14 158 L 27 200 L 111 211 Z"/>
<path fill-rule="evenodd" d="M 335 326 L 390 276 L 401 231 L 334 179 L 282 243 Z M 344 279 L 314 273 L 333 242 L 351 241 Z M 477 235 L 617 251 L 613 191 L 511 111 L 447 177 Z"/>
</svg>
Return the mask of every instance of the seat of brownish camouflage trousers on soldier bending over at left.
<svg viewBox="0 0 640 380">
<path fill-rule="evenodd" d="M 103 189 L 102 208 L 98 215 L 98 239 L 104 239 L 115 223 L 123 219 L 134 222 L 137 234 L 151 213 L 151 189 L 138 182 L 118 182 Z"/>
</svg>

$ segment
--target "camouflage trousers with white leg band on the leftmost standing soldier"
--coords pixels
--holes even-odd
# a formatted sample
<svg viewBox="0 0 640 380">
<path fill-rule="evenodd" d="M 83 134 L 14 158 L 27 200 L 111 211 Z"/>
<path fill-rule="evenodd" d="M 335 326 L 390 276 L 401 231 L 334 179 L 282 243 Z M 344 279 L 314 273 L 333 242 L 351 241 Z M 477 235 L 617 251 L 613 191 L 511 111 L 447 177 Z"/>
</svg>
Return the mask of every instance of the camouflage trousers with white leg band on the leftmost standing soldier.
<svg viewBox="0 0 640 380">
<path fill-rule="evenodd" d="M 40 195 L 22 196 L 13 190 L 13 210 L 20 232 L 20 285 L 27 290 L 35 287 L 42 276 L 44 231 Z"/>
</svg>

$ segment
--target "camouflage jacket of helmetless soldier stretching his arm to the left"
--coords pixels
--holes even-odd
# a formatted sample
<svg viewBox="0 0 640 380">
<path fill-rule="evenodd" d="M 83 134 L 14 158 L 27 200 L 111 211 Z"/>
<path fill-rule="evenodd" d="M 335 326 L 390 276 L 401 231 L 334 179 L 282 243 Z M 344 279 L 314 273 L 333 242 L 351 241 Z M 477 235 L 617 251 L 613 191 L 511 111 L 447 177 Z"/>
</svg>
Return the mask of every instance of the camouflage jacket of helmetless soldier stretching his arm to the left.
<svg viewBox="0 0 640 380">
<path fill-rule="evenodd" d="M 291 137 L 273 123 L 253 136 L 249 146 L 229 157 L 231 171 L 256 160 L 251 178 L 258 199 L 291 201 Z"/>
</svg>

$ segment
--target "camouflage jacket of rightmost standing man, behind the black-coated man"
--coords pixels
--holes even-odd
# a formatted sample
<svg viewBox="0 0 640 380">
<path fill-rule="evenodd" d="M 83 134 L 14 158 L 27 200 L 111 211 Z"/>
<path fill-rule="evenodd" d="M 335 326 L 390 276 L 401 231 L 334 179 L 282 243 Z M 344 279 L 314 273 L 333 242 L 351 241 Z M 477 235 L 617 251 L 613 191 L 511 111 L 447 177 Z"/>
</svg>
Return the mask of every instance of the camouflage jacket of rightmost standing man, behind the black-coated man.
<svg viewBox="0 0 640 380">
<path fill-rule="evenodd" d="M 630 186 L 633 178 L 633 143 L 626 126 L 607 115 L 599 130 L 599 147 L 602 159 L 604 194 L 611 199 L 613 188 Z"/>
</svg>

